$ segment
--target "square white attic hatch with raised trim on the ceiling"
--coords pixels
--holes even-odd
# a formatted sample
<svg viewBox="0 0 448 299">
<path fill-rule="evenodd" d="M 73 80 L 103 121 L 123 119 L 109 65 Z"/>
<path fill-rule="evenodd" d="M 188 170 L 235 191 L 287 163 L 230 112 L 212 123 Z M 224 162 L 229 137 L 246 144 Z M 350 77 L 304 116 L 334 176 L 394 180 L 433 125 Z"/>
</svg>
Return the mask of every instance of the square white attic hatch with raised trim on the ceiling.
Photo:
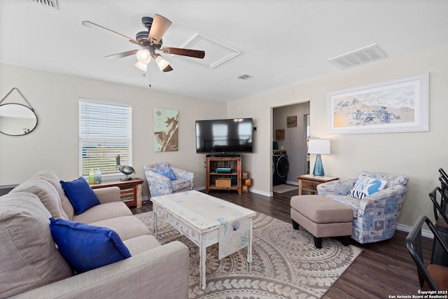
<svg viewBox="0 0 448 299">
<path fill-rule="evenodd" d="M 181 56 L 182 58 L 188 59 L 191 62 L 196 62 L 204 66 L 214 69 L 218 65 L 232 59 L 233 57 L 239 55 L 241 52 L 232 49 L 228 46 L 218 43 L 212 39 L 205 36 L 197 34 L 191 41 L 189 41 L 183 48 L 193 49 L 193 50 L 204 50 L 205 57 L 202 60 L 196 58 Z"/>
</svg>

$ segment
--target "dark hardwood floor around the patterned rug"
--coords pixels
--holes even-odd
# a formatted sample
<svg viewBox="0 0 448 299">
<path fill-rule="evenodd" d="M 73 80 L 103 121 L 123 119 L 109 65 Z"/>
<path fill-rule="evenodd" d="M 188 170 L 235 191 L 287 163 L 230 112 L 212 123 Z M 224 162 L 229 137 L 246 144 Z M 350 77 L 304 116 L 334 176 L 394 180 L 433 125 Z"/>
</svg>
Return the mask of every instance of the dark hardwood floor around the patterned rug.
<svg viewBox="0 0 448 299">
<path fill-rule="evenodd" d="M 210 195 L 253 209 L 263 214 L 291 223 L 290 197 L 297 190 L 266 197 L 255 193 L 238 195 L 235 191 L 211 190 Z M 151 202 L 144 202 L 141 209 L 132 208 L 132 213 L 152 211 Z M 291 229 L 293 225 L 291 224 Z M 351 244 L 363 249 L 360 256 L 342 274 L 330 290 L 326 299 L 347 298 L 388 298 L 388 295 L 417 295 L 419 282 L 414 260 L 407 252 L 405 238 L 407 232 L 395 231 L 392 239 L 371 244 Z M 432 240 L 423 238 L 424 256 L 430 258 Z M 325 241 L 324 241 L 325 242 Z"/>
</svg>

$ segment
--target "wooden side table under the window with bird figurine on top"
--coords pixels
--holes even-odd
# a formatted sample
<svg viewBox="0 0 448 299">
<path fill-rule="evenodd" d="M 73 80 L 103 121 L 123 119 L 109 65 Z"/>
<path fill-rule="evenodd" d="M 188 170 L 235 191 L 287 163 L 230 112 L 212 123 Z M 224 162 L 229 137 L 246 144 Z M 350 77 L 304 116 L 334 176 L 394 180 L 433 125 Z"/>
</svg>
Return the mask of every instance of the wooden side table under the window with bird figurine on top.
<svg viewBox="0 0 448 299">
<path fill-rule="evenodd" d="M 92 189 L 118 187 L 120 188 L 121 201 L 127 207 L 141 208 L 141 187 L 143 182 L 142 179 L 133 178 L 129 181 L 104 181 L 102 183 L 94 183 L 90 187 Z"/>
</svg>

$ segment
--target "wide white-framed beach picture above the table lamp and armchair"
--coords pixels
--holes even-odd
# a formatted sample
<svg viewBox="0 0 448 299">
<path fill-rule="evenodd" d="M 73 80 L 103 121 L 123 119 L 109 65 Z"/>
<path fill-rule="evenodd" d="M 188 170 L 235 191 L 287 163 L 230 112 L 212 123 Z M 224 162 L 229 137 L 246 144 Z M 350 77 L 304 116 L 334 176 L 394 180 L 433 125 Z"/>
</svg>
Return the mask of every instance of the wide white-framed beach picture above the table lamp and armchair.
<svg viewBox="0 0 448 299">
<path fill-rule="evenodd" d="M 327 93 L 328 134 L 429 130 L 429 74 Z"/>
</svg>

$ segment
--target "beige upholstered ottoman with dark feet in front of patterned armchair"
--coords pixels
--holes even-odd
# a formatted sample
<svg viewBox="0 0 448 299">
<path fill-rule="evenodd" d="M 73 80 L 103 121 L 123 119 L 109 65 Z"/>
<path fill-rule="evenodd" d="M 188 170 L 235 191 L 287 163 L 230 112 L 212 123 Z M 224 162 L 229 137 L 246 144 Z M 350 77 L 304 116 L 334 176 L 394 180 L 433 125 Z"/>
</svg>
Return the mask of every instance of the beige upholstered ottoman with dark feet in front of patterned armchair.
<svg viewBox="0 0 448 299">
<path fill-rule="evenodd" d="M 322 195 L 295 195 L 291 197 L 293 228 L 299 225 L 314 236 L 314 246 L 322 248 L 323 237 L 342 237 L 348 246 L 353 234 L 353 210 Z"/>
</svg>

